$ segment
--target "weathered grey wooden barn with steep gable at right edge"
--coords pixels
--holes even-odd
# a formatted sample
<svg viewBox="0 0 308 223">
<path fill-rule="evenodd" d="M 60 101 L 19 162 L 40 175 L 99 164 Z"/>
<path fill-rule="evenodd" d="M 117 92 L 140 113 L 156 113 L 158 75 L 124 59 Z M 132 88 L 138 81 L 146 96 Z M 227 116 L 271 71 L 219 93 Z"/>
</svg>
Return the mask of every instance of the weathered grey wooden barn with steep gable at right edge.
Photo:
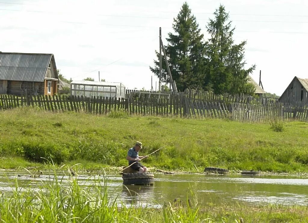
<svg viewBox="0 0 308 223">
<path fill-rule="evenodd" d="M 295 76 L 278 101 L 282 103 L 290 103 L 292 105 L 307 103 L 307 92 L 308 79 L 302 79 Z"/>
</svg>

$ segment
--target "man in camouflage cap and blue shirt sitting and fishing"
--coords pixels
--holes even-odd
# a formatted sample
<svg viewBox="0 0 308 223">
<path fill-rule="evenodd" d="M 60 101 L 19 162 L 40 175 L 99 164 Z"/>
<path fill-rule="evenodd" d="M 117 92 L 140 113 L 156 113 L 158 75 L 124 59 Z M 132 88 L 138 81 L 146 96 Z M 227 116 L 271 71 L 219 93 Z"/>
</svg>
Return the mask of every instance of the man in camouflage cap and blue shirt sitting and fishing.
<svg viewBox="0 0 308 223">
<path fill-rule="evenodd" d="M 132 163 L 132 169 L 139 171 L 139 173 L 145 173 L 147 171 L 147 167 L 144 167 L 139 162 L 140 159 L 147 158 L 148 156 L 139 156 L 138 152 L 142 149 L 142 143 L 137 141 L 135 146 L 128 150 L 126 159 L 128 160 L 128 165 Z"/>
</svg>

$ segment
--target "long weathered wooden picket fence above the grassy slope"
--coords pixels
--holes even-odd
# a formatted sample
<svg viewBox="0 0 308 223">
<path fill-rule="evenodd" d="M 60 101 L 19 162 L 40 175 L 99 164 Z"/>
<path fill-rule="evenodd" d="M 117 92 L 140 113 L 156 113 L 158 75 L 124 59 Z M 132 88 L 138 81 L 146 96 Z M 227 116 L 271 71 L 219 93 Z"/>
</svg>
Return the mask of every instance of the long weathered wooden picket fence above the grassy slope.
<svg viewBox="0 0 308 223">
<path fill-rule="evenodd" d="M 21 106 L 40 107 L 49 111 L 75 111 L 107 114 L 122 110 L 129 114 L 229 118 L 239 122 L 267 122 L 272 119 L 308 120 L 307 105 L 283 104 L 273 100 L 233 102 L 215 96 L 214 99 L 187 97 L 184 93 L 159 94 L 136 92 L 127 98 L 78 96 L 16 96 L 0 95 L 0 110 Z M 223 98 L 223 97 L 222 97 Z"/>
</svg>

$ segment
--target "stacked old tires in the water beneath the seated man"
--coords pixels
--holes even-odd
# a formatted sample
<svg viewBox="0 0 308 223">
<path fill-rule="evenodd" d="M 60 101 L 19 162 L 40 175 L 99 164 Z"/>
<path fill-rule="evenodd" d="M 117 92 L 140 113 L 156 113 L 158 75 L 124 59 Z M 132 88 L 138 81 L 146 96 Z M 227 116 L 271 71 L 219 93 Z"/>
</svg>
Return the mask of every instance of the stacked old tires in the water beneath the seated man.
<svg viewBox="0 0 308 223">
<path fill-rule="evenodd" d="M 152 173 L 123 173 L 122 175 L 124 185 L 153 185 L 154 174 Z"/>
</svg>

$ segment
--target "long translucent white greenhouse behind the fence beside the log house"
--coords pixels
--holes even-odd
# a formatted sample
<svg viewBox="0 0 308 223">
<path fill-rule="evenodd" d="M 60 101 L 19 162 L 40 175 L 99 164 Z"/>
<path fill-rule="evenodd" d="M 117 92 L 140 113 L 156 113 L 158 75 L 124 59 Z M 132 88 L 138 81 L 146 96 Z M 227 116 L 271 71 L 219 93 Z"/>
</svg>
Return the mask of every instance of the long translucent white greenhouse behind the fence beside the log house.
<svg viewBox="0 0 308 223">
<path fill-rule="evenodd" d="M 104 81 L 72 81 L 71 95 L 83 97 L 125 97 L 122 83 Z"/>
</svg>

